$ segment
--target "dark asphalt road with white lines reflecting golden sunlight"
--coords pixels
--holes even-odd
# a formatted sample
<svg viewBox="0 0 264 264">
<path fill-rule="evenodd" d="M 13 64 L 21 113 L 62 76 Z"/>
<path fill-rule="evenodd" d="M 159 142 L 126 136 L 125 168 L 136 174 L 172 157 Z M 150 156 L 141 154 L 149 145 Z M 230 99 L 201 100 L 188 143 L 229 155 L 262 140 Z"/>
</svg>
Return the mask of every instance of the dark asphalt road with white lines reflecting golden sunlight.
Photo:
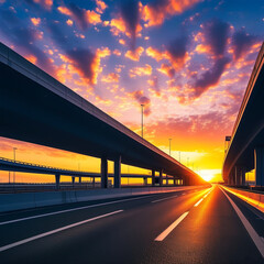
<svg viewBox="0 0 264 264">
<path fill-rule="evenodd" d="M 264 263 L 263 213 L 228 197 L 215 186 L 0 215 L 0 263 Z"/>
</svg>

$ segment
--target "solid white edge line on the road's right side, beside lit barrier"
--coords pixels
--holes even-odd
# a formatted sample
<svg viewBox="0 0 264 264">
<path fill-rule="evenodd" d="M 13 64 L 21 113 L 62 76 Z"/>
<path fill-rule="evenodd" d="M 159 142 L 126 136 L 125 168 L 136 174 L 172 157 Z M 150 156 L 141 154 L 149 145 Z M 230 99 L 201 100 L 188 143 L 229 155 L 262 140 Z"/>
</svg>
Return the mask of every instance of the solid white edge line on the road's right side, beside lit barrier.
<svg viewBox="0 0 264 264">
<path fill-rule="evenodd" d="M 248 219 L 244 217 L 242 211 L 239 209 L 239 207 L 233 202 L 233 200 L 229 197 L 229 195 L 222 189 L 222 193 L 227 196 L 228 200 L 230 201 L 231 206 L 233 207 L 234 211 L 238 213 L 241 222 L 244 224 L 244 228 L 246 229 L 248 233 L 250 234 L 251 239 L 255 243 L 257 250 L 262 254 L 262 257 L 264 257 L 264 241 L 262 238 L 256 233 L 254 228 L 251 226 L 251 223 L 248 221 Z"/>
</svg>

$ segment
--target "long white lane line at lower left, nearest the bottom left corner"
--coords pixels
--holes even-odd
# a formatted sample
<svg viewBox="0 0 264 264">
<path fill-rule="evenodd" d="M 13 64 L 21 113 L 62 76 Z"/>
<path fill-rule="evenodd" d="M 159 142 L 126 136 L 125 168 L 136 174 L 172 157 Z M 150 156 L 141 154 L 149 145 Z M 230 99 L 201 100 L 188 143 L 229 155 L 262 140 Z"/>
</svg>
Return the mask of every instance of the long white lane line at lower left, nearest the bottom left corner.
<svg viewBox="0 0 264 264">
<path fill-rule="evenodd" d="M 95 220 L 98 220 L 98 219 L 101 219 L 101 218 L 105 218 L 105 217 L 109 217 L 109 216 L 112 216 L 112 215 L 116 215 L 116 213 L 119 213 L 119 212 L 122 212 L 122 211 L 123 210 L 112 211 L 112 212 L 109 212 L 109 213 L 106 213 L 106 215 L 101 215 L 101 216 L 98 216 L 98 217 L 95 217 L 95 218 L 90 218 L 90 219 L 87 219 L 87 220 L 84 220 L 84 221 L 80 221 L 80 222 L 72 223 L 72 224 L 65 226 L 63 228 L 54 229 L 52 231 L 48 231 L 48 232 L 45 232 L 45 233 L 41 233 L 41 234 L 34 235 L 34 237 L 31 237 L 29 239 L 24 239 L 24 240 L 21 240 L 21 241 L 18 241 L 18 242 L 14 242 L 14 243 L 1 246 L 0 248 L 0 252 L 3 252 L 6 250 L 15 248 L 18 245 L 25 244 L 25 243 L 29 243 L 31 241 L 34 241 L 34 240 L 37 240 L 37 239 L 41 239 L 41 238 L 44 238 L 44 237 L 47 237 L 47 235 L 61 232 L 61 231 L 64 231 L 66 229 L 75 228 L 75 227 L 78 227 L 80 224 L 84 224 L 84 223 L 87 223 L 87 222 L 91 222 L 91 221 L 95 221 Z"/>
</svg>

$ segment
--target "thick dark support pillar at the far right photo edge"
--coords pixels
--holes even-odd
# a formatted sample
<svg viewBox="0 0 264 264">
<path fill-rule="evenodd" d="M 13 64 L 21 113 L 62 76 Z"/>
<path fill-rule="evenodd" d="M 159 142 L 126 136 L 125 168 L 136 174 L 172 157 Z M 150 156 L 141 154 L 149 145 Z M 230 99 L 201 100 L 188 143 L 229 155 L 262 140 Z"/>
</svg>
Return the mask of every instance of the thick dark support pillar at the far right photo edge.
<svg viewBox="0 0 264 264">
<path fill-rule="evenodd" d="M 264 147 L 254 150 L 254 167 L 256 186 L 264 186 Z"/>
</svg>

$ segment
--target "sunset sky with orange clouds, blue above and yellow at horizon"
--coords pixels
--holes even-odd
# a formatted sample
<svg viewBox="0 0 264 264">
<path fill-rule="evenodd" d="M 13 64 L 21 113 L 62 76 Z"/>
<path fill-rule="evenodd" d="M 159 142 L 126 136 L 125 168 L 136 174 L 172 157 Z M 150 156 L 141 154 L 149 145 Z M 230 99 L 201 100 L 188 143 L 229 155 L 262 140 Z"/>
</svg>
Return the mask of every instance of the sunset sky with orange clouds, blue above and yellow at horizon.
<svg viewBox="0 0 264 264">
<path fill-rule="evenodd" d="M 221 179 L 264 38 L 263 0 L 0 0 L 0 41 L 206 179 Z M 99 161 L 0 138 L 0 156 Z M 111 166 L 110 166 L 111 167 Z M 123 170 L 129 168 L 123 167 Z M 132 168 L 132 172 L 134 172 Z"/>
</svg>

